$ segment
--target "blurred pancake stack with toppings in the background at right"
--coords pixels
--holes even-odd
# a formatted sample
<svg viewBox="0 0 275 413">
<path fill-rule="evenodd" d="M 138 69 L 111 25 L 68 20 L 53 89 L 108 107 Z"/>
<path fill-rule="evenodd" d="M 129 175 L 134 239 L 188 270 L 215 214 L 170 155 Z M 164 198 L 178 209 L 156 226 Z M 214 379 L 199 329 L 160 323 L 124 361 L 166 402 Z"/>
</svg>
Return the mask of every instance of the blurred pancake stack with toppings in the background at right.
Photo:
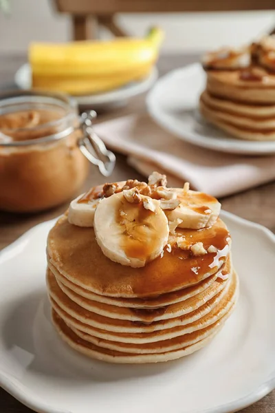
<svg viewBox="0 0 275 413">
<path fill-rule="evenodd" d="M 236 138 L 275 140 L 274 56 L 272 36 L 247 50 L 210 54 L 199 100 L 203 117 Z"/>
</svg>

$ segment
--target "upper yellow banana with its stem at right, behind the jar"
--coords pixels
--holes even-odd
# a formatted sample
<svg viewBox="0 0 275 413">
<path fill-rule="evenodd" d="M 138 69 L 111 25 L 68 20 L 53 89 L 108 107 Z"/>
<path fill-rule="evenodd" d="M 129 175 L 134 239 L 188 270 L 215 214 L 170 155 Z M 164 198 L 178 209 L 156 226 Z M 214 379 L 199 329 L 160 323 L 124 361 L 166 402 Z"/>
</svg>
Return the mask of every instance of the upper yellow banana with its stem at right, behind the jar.
<svg viewBox="0 0 275 413">
<path fill-rule="evenodd" d="M 29 60 L 34 75 L 104 76 L 155 63 L 164 34 L 153 28 L 144 39 L 32 43 Z"/>
</svg>

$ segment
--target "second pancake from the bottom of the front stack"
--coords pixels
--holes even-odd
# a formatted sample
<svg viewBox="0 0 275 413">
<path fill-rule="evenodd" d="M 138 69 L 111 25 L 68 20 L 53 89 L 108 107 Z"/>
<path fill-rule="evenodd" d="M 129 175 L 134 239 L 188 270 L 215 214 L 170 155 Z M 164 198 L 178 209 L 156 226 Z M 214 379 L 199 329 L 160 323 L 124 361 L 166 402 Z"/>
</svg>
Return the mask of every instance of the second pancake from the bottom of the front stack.
<svg viewBox="0 0 275 413">
<path fill-rule="evenodd" d="M 174 328 L 168 328 L 166 330 L 157 330 L 154 332 L 110 332 L 99 328 L 91 327 L 84 324 L 77 319 L 74 319 L 71 315 L 66 313 L 58 304 L 52 300 L 52 306 L 56 313 L 65 321 L 70 328 L 75 328 L 78 331 L 84 332 L 88 335 L 105 339 L 109 341 L 119 341 L 120 343 L 153 343 L 155 341 L 162 341 L 167 339 L 173 339 L 180 335 L 188 334 L 201 328 L 206 328 L 214 322 L 218 321 L 228 313 L 230 308 L 236 304 L 239 296 L 239 280 L 236 274 L 233 275 L 233 282 L 228 289 L 228 293 L 223 295 L 217 306 L 215 306 L 206 315 L 196 321 L 192 321 L 184 326 L 177 326 Z M 193 317 L 195 318 L 195 317 Z"/>
</svg>

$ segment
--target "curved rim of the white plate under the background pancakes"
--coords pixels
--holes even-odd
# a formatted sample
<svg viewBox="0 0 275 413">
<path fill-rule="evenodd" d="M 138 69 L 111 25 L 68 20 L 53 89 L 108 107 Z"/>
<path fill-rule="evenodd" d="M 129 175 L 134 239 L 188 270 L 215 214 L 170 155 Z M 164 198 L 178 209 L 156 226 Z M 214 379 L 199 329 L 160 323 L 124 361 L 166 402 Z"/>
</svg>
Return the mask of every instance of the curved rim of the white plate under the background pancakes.
<svg viewBox="0 0 275 413">
<path fill-rule="evenodd" d="M 275 141 L 245 140 L 234 138 L 233 136 L 230 137 L 229 135 L 229 137 L 232 139 L 232 142 L 227 142 L 225 140 L 223 141 L 219 138 L 210 141 L 208 141 L 208 138 L 206 142 L 204 142 L 203 140 L 201 140 L 201 138 L 203 138 L 203 135 L 197 134 L 192 131 L 187 131 L 184 132 L 184 134 L 180 134 L 179 130 L 177 129 L 177 127 L 173 125 L 173 123 L 170 123 L 168 120 L 162 118 L 162 116 L 159 116 L 159 110 L 156 109 L 156 106 L 154 104 L 154 94 L 156 93 L 156 91 L 159 90 L 159 88 L 161 88 L 162 85 L 164 85 L 165 83 L 170 82 L 173 77 L 178 76 L 179 74 L 181 74 L 181 78 L 183 76 L 188 76 L 190 74 L 193 74 L 193 76 L 195 76 L 195 71 L 199 71 L 200 74 L 203 74 L 203 69 L 200 63 L 198 62 L 191 63 L 190 65 L 186 65 L 183 67 L 178 67 L 175 70 L 171 70 L 170 72 L 164 74 L 164 76 L 161 76 L 156 81 L 155 85 L 153 85 L 152 89 L 148 92 L 146 96 L 146 107 L 148 113 L 152 116 L 155 122 L 162 126 L 164 129 L 166 129 L 166 131 L 172 133 L 176 138 L 183 140 L 184 142 L 188 142 L 191 145 L 195 145 L 197 147 L 203 147 L 205 149 L 213 151 L 235 153 L 240 155 L 268 156 L 275 154 Z M 198 76 L 198 74 L 196 76 Z M 214 127 L 214 125 L 211 126 L 215 129 L 219 129 L 217 127 Z M 217 147 L 217 140 L 219 140 L 219 147 Z M 236 146 L 232 147 L 232 144 Z"/>
</svg>

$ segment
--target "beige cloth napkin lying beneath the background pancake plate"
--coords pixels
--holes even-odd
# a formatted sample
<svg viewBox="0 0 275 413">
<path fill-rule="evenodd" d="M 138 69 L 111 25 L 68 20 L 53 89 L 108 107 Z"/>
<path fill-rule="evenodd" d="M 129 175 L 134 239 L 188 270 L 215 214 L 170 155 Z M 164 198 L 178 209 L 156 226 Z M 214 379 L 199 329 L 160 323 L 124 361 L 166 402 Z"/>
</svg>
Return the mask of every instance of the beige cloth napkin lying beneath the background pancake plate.
<svg viewBox="0 0 275 413">
<path fill-rule="evenodd" d="M 189 145 L 155 124 L 150 116 L 125 116 L 95 126 L 105 144 L 129 156 L 129 164 L 148 176 L 164 172 L 170 186 L 190 182 L 193 189 L 220 197 L 275 179 L 275 156 L 236 156 Z"/>
</svg>

